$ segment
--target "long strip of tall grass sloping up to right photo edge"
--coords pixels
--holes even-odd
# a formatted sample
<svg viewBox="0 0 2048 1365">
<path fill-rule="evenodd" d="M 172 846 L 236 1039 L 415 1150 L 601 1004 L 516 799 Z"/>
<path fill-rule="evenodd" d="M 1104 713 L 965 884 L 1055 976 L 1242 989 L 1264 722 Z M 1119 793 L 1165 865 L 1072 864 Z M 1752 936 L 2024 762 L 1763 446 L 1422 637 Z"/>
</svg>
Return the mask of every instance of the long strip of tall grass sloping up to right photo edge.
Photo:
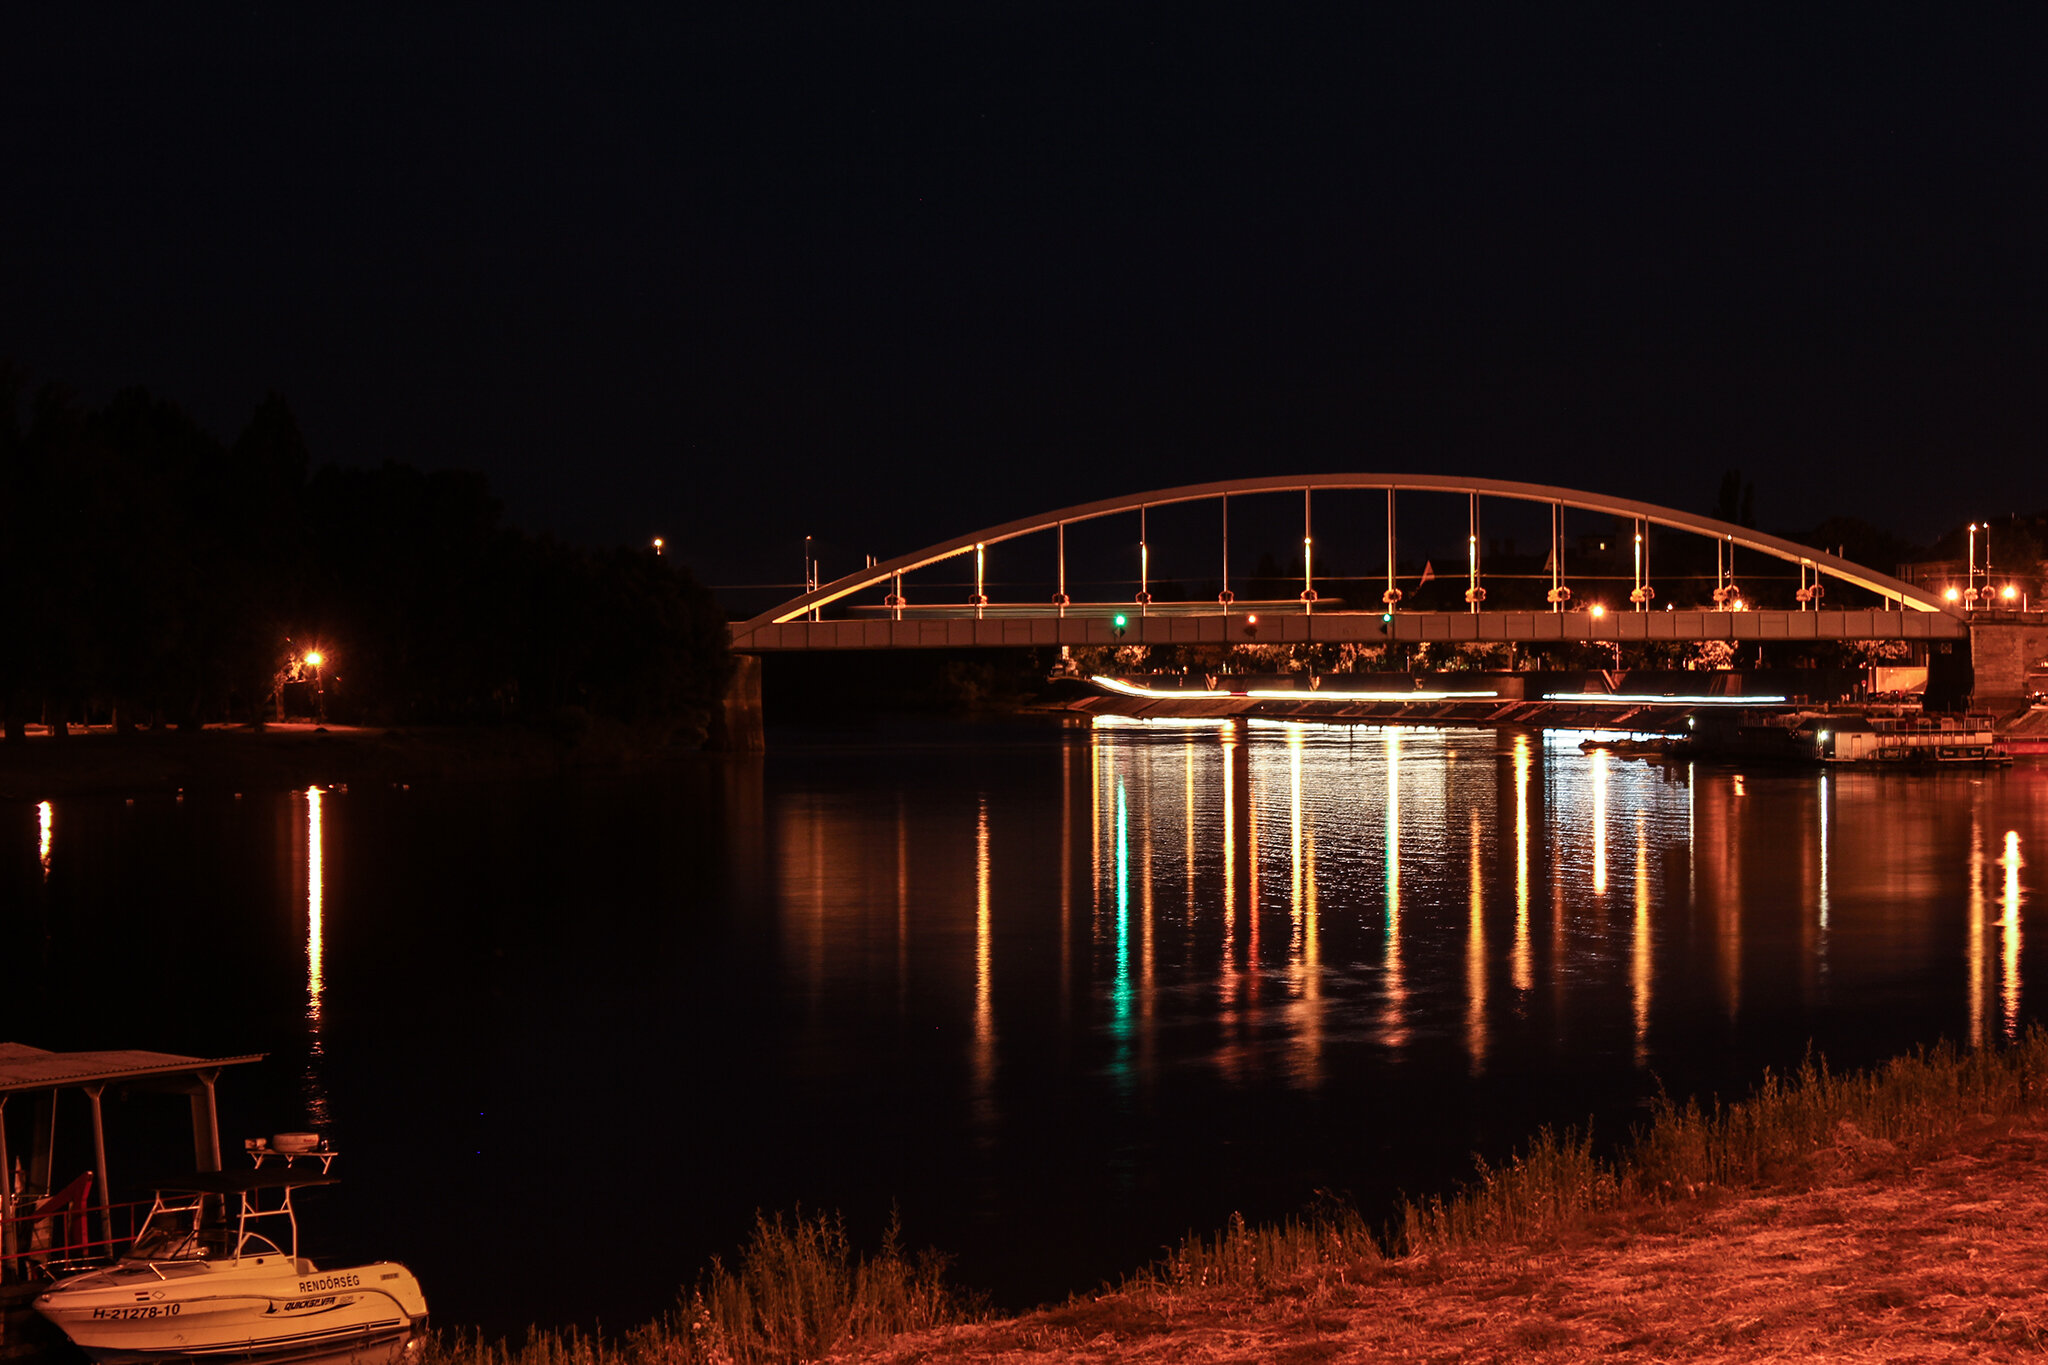
<svg viewBox="0 0 2048 1365">
<path fill-rule="evenodd" d="M 1829 1148 L 1870 1154 L 1939 1144 L 2040 1107 L 2044 1078 L 2048 1033 L 2040 1027 L 2007 1048 L 1937 1044 L 1849 1074 L 1808 1058 L 1790 1076 L 1765 1072 L 1739 1103 L 1659 1097 L 1614 1158 L 1593 1150 L 1589 1132 L 1546 1128 L 1501 1166 L 1479 1160 L 1477 1177 L 1454 1195 L 1403 1201 L 1378 1236 L 1354 1209 L 1323 1207 L 1260 1228 L 1233 1218 L 1225 1232 L 1188 1236 L 1124 1287 L 1167 1295 L 1262 1289 L 1303 1275 L 1343 1279 L 1399 1257 L 1538 1242 L 1608 1209 L 1751 1185 Z"/>
</svg>

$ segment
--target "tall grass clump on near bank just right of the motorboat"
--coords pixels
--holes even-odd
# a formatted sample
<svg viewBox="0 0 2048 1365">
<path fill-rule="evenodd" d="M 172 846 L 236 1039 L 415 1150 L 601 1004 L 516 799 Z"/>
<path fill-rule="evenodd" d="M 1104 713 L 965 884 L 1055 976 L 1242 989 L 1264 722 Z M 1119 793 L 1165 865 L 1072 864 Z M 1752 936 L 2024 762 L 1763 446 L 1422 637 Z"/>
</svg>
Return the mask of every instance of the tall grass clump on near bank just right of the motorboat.
<svg viewBox="0 0 2048 1365">
<path fill-rule="evenodd" d="M 528 1330 L 520 1347 L 434 1336 L 422 1365 L 797 1365 L 971 1310 L 946 1285 L 944 1257 L 903 1252 L 895 1218 L 862 1257 L 836 1214 L 756 1214 L 735 1269 L 715 1259 L 686 1300 L 623 1338 L 575 1328 Z"/>
</svg>

